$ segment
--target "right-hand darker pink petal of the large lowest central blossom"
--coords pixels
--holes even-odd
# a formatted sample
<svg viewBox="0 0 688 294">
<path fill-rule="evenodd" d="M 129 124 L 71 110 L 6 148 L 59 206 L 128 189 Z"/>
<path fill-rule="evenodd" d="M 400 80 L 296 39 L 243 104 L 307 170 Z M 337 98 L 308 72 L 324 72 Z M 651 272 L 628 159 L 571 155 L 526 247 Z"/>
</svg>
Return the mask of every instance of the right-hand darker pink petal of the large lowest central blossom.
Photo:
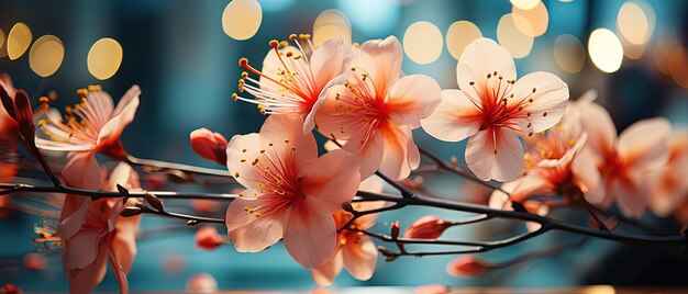
<svg viewBox="0 0 688 294">
<path fill-rule="evenodd" d="M 343 202 L 351 202 L 360 183 L 358 158 L 343 150 L 330 151 L 308 167 L 299 177 L 301 193 L 318 197 L 321 207 L 330 213 L 342 210 Z"/>
</svg>

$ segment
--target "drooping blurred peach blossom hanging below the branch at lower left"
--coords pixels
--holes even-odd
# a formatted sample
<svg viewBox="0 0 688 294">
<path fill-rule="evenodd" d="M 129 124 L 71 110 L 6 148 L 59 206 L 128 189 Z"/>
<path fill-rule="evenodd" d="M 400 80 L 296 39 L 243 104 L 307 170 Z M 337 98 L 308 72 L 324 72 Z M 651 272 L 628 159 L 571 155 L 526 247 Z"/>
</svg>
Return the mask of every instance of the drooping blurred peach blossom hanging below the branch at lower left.
<svg viewBox="0 0 688 294">
<path fill-rule="evenodd" d="M 103 182 L 106 184 L 100 189 L 107 191 L 118 191 L 116 184 L 140 188 L 135 171 L 124 162 L 119 163 Z M 130 199 L 129 203 L 136 201 Z M 91 292 L 102 281 L 108 261 L 120 283 L 120 292 L 129 292 L 126 273 L 136 255 L 135 235 L 141 216 L 120 217 L 123 206 L 120 199 L 65 196 L 58 235 L 64 242 L 64 264 L 70 292 Z"/>
</svg>

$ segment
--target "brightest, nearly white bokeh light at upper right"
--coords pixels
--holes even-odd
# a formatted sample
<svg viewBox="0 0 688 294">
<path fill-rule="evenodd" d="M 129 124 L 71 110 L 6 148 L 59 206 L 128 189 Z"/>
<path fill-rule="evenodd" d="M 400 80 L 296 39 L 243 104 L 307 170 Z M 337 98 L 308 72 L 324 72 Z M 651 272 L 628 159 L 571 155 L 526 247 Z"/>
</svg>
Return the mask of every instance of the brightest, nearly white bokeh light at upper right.
<svg viewBox="0 0 688 294">
<path fill-rule="evenodd" d="M 607 29 L 597 29 L 588 39 L 588 53 L 592 64 L 604 72 L 614 72 L 621 67 L 623 47 L 617 35 Z"/>
</svg>

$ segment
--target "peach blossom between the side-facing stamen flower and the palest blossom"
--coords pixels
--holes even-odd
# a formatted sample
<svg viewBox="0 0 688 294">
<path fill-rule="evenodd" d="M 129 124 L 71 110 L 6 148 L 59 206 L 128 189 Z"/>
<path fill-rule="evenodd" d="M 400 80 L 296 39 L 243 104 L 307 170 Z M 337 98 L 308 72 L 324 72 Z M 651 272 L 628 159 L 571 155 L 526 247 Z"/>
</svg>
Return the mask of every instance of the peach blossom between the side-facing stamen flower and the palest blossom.
<svg viewBox="0 0 688 294">
<path fill-rule="evenodd" d="M 360 158 L 365 179 L 376 170 L 407 178 L 420 165 L 411 131 L 440 103 L 441 89 L 423 75 L 400 78 L 403 54 L 389 36 L 360 45 L 344 84 L 333 86 L 315 114 L 317 129 L 346 140 L 343 149 Z"/>
</svg>

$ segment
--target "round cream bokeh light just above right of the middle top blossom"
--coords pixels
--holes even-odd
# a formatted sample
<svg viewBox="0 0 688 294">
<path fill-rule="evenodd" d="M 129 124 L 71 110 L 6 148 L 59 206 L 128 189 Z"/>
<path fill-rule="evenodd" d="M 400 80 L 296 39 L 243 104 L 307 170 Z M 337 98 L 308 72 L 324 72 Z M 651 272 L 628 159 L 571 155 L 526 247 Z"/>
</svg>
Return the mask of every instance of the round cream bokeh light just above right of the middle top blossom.
<svg viewBox="0 0 688 294">
<path fill-rule="evenodd" d="M 426 65 L 437 60 L 443 46 L 442 32 L 430 22 L 415 22 L 403 34 L 403 50 L 417 64 Z"/>
</svg>

